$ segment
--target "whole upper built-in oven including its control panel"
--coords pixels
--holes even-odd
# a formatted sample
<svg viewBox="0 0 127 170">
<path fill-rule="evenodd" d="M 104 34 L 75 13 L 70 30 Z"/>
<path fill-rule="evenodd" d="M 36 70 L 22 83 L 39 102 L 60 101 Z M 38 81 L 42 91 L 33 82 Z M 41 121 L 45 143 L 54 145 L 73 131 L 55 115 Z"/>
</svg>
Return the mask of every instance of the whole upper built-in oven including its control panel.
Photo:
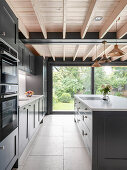
<svg viewBox="0 0 127 170">
<path fill-rule="evenodd" d="M 0 84 L 18 84 L 18 52 L 0 41 Z"/>
</svg>

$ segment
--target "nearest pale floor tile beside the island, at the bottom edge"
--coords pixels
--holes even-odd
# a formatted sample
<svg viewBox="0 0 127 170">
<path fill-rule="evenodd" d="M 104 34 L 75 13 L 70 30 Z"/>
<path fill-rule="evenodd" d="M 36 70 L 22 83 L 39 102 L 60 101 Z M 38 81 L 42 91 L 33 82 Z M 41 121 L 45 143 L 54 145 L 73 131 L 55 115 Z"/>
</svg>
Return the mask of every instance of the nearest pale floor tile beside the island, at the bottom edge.
<svg viewBox="0 0 127 170">
<path fill-rule="evenodd" d="M 64 170 L 91 170 L 85 148 L 64 148 Z"/>
</svg>

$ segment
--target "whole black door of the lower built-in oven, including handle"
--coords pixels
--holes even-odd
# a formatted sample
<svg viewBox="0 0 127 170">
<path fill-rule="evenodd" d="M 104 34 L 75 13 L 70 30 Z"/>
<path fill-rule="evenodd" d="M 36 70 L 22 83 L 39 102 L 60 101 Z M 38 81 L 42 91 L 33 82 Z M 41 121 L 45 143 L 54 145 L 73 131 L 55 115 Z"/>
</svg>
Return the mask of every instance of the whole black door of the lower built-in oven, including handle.
<svg viewBox="0 0 127 170">
<path fill-rule="evenodd" d="M 17 95 L 2 97 L 0 100 L 0 140 L 18 126 Z"/>
</svg>

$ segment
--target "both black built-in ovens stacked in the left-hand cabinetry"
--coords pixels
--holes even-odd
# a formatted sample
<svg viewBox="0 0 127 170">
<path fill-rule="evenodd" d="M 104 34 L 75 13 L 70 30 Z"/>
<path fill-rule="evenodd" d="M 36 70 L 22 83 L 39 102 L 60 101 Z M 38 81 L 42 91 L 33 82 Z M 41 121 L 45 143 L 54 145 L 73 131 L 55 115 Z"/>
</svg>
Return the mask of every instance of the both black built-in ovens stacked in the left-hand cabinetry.
<svg viewBox="0 0 127 170">
<path fill-rule="evenodd" d="M 0 140 L 18 127 L 18 52 L 0 39 Z"/>
</svg>

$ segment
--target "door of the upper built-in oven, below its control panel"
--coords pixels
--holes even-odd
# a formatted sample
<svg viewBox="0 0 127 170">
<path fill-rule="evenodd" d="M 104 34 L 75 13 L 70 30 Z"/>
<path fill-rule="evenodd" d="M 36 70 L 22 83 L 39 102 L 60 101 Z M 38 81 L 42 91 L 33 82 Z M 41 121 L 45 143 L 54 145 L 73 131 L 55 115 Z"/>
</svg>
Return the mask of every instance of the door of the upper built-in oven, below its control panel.
<svg viewBox="0 0 127 170">
<path fill-rule="evenodd" d="M 1 59 L 1 83 L 18 84 L 17 62 L 6 58 Z"/>
</svg>

